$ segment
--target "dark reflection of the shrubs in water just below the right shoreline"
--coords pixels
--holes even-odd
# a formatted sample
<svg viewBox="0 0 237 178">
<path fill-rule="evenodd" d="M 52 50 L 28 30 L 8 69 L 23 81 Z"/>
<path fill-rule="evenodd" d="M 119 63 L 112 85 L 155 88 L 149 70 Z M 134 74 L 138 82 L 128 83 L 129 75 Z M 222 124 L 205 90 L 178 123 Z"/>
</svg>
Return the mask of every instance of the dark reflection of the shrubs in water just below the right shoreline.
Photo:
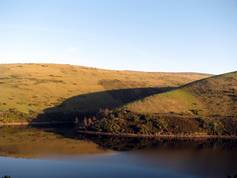
<svg viewBox="0 0 237 178">
<path fill-rule="evenodd" d="M 146 148 L 168 148 L 168 149 L 234 149 L 237 150 L 235 140 L 207 139 L 207 140 L 178 140 L 178 139 L 152 139 L 152 138 L 126 138 L 109 136 L 85 136 L 80 139 L 90 140 L 104 149 L 116 151 L 140 150 Z"/>
</svg>

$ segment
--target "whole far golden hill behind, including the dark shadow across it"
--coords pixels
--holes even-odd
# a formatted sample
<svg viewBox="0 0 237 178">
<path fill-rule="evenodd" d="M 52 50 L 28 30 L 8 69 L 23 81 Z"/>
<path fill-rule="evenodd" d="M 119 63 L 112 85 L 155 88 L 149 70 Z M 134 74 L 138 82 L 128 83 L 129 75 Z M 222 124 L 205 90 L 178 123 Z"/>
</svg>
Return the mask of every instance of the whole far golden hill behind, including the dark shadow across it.
<svg viewBox="0 0 237 178">
<path fill-rule="evenodd" d="M 0 122 L 31 120 L 39 113 L 55 110 L 115 108 L 208 76 L 57 64 L 1 64 Z"/>
</svg>

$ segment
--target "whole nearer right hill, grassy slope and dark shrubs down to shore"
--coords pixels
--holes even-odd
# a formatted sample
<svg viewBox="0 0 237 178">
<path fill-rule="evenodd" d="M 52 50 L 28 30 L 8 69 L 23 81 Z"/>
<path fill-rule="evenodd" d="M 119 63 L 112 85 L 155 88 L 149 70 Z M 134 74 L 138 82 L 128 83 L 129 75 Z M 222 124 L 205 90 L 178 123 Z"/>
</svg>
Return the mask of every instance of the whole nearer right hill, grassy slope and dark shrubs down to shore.
<svg viewBox="0 0 237 178">
<path fill-rule="evenodd" d="M 113 133 L 237 135 L 237 72 L 212 76 L 103 111 L 89 130 Z"/>
</svg>

